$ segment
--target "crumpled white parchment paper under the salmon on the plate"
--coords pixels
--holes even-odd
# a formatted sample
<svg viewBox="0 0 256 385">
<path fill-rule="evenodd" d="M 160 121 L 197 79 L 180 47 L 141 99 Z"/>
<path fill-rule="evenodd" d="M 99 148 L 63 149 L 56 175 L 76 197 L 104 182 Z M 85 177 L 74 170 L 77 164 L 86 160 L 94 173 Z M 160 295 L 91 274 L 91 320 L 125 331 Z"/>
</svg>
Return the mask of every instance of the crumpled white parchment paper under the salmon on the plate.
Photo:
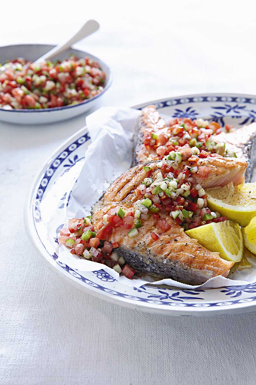
<svg viewBox="0 0 256 385">
<path fill-rule="evenodd" d="M 103 107 L 86 118 L 92 143 L 88 146 L 84 166 L 73 186 L 66 209 L 65 223 L 68 223 L 70 218 L 88 215 L 93 204 L 102 196 L 109 184 L 130 168 L 133 151 L 132 137 L 139 114 L 139 110 L 131 108 Z M 75 254 L 71 254 L 64 245 L 59 247 L 58 261 L 65 263 L 84 277 L 88 271 L 104 269 L 120 283 L 134 287 L 154 283 L 154 285 L 169 285 L 178 288 L 206 289 L 246 285 L 256 281 L 256 258 L 252 255 L 251 258 L 248 257 L 248 261 L 252 265 L 251 269 L 243 271 L 233 269 L 229 278 L 217 276 L 198 286 L 186 285 L 172 279 L 155 281 L 151 277 L 143 277 L 143 279 L 135 277 L 129 280 L 101 263 L 81 259 Z"/>
</svg>

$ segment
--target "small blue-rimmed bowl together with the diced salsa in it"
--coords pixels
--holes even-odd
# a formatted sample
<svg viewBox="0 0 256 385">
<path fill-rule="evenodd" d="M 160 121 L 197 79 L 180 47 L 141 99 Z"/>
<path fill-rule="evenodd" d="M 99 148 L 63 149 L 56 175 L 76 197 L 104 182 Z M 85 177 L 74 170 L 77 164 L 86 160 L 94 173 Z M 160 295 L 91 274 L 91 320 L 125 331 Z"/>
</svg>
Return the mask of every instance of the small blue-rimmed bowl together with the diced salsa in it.
<svg viewBox="0 0 256 385">
<path fill-rule="evenodd" d="M 66 120 L 91 109 L 109 88 L 107 65 L 83 51 L 69 49 L 33 65 L 51 48 L 40 44 L 0 47 L 0 120 L 18 124 Z"/>
</svg>

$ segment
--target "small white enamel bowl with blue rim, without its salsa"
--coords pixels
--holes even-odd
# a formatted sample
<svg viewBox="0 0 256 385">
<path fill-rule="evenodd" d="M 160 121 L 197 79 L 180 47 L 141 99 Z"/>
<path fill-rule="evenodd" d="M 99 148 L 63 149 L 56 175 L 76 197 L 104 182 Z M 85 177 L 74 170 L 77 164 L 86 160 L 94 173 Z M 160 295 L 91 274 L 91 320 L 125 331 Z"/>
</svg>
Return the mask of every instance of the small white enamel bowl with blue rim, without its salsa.
<svg viewBox="0 0 256 385">
<path fill-rule="evenodd" d="M 0 62 L 4 63 L 6 60 L 12 60 L 16 57 L 24 57 L 26 60 L 35 61 L 46 52 L 54 48 L 54 45 L 51 44 L 17 44 L 17 45 L 6 45 L 0 47 Z M 93 56 L 85 51 L 80 51 L 77 49 L 68 49 L 62 54 L 57 55 L 53 60 L 59 59 L 64 60 L 69 57 L 70 54 L 74 54 L 79 59 L 82 59 L 86 56 L 90 57 L 93 60 L 96 60 L 102 70 L 106 74 L 106 80 L 104 89 L 100 94 L 92 97 L 91 99 L 84 100 L 79 104 L 66 105 L 63 107 L 54 107 L 46 109 L 13 109 L 5 110 L 0 108 L 0 121 L 15 123 L 15 124 L 44 124 L 44 123 L 55 123 L 58 121 L 63 121 L 70 119 L 72 117 L 83 114 L 92 107 L 94 107 L 99 102 L 99 98 L 109 89 L 112 79 L 111 72 L 109 67 L 98 59 L 96 56 Z"/>
</svg>

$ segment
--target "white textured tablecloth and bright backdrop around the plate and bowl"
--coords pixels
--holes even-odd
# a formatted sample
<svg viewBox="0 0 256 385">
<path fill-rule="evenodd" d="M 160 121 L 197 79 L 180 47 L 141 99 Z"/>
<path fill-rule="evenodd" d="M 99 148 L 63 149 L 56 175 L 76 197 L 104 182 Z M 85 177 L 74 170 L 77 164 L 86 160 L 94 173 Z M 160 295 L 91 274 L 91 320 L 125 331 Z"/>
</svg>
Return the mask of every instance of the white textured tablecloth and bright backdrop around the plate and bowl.
<svg viewBox="0 0 256 385">
<path fill-rule="evenodd" d="M 100 31 L 77 47 L 112 69 L 102 105 L 256 94 L 255 11 L 248 1 L 4 2 L 0 44 L 58 43 L 95 18 Z M 137 313 L 69 286 L 33 251 L 23 224 L 26 194 L 43 162 L 84 121 L 0 123 L 0 384 L 255 384 L 255 313 Z"/>
</svg>

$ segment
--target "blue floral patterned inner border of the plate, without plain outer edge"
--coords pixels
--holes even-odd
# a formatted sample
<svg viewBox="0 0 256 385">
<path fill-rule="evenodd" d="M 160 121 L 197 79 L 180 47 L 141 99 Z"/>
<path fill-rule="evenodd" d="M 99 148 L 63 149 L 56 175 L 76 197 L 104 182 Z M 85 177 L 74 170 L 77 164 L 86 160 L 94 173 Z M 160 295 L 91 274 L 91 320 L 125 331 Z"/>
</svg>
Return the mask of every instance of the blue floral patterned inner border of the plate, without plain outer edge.
<svg viewBox="0 0 256 385">
<path fill-rule="evenodd" d="M 147 103 L 148 104 L 148 103 Z M 145 105 L 140 105 L 142 109 Z M 226 122 L 233 125 L 243 125 L 254 121 L 256 116 L 256 97 L 247 95 L 188 95 L 180 98 L 170 98 L 155 102 L 157 109 L 173 117 L 203 117 Z M 177 106 L 179 107 L 177 108 Z M 84 152 L 90 137 L 86 129 L 83 134 L 77 134 L 70 139 L 66 148 L 56 154 L 53 161 L 42 172 L 40 181 L 33 191 L 31 220 L 37 234 L 38 241 L 43 244 L 45 253 L 55 261 L 61 269 L 72 275 L 82 285 L 91 287 L 94 291 L 101 291 L 107 295 L 122 298 L 128 301 L 149 303 L 167 307 L 207 308 L 235 306 L 246 302 L 256 301 L 256 283 L 245 286 L 230 286 L 212 290 L 178 290 L 177 288 L 162 288 L 157 286 L 141 286 L 140 288 L 124 286 L 103 270 L 88 273 L 86 278 L 77 271 L 58 262 L 58 241 L 56 234 L 59 224 L 63 223 L 63 208 L 68 204 L 71 186 L 76 181 L 79 169 L 83 165 Z M 79 168 L 80 167 L 80 168 Z M 58 189 L 56 188 L 58 187 Z M 44 218 L 45 211 L 41 210 L 43 203 L 53 202 L 55 195 L 56 213 L 54 217 Z M 57 191 L 57 192 L 56 192 Z M 50 215 L 50 214 L 49 214 Z M 48 229 L 53 228 L 52 239 L 46 240 Z M 48 232 L 46 231 L 48 229 Z M 232 298 L 232 300 L 231 300 Z M 233 299 L 235 298 L 235 299 Z M 228 301 L 227 301 L 228 299 Z"/>
</svg>

